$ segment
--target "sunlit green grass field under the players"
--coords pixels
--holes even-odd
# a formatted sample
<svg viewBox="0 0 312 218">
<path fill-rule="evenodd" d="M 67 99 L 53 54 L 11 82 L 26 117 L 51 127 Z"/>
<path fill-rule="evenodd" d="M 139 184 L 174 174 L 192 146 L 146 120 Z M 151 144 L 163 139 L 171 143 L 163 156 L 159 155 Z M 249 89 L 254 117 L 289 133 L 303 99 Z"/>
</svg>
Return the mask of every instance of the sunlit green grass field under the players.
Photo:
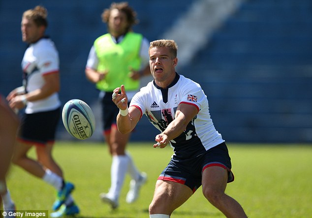
<svg viewBox="0 0 312 218">
<path fill-rule="evenodd" d="M 226 193 L 235 198 L 250 218 L 309 218 L 312 216 L 312 145 L 227 143 L 235 181 Z M 120 207 L 111 211 L 98 195 L 110 186 L 111 157 L 104 143 L 57 142 L 55 159 L 65 179 L 75 184 L 73 197 L 81 209 L 79 218 L 148 218 L 156 179 L 167 165 L 172 149 L 154 149 L 153 142 L 130 143 L 128 151 L 138 168 L 147 172 L 148 182 L 140 198 L 125 202 L 130 178 L 126 177 Z M 33 150 L 31 156 L 34 156 Z M 56 191 L 12 166 L 7 178 L 18 210 L 49 210 Z M 171 218 L 224 217 L 203 197 L 201 188 Z"/>
</svg>

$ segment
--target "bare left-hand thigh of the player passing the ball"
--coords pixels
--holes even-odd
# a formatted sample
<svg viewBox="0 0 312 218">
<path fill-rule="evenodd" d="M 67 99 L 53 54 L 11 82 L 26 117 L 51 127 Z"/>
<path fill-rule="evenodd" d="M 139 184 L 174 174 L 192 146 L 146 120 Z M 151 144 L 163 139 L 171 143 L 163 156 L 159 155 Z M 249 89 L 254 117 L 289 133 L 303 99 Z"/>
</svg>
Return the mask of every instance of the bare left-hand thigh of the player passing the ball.
<svg viewBox="0 0 312 218">
<path fill-rule="evenodd" d="M 153 201 L 150 206 L 150 213 L 171 215 L 192 194 L 192 190 L 183 184 L 157 180 Z"/>
</svg>

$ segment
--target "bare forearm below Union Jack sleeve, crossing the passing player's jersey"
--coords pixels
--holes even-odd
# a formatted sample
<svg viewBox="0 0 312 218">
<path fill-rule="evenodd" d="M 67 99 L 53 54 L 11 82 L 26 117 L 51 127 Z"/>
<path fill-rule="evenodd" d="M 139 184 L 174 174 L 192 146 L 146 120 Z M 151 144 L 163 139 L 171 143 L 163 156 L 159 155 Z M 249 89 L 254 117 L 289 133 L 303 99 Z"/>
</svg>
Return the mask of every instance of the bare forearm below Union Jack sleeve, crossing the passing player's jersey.
<svg viewBox="0 0 312 218">
<path fill-rule="evenodd" d="M 156 135 L 155 140 L 164 148 L 170 140 L 178 137 L 187 127 L 187 124 L 196 116 L 198 110 L 189 104 L 180 104 L 175 114 L 175 119 L 160 134 Z M 154 147 L 157 147 L 156 144 Z"/>
</svg>

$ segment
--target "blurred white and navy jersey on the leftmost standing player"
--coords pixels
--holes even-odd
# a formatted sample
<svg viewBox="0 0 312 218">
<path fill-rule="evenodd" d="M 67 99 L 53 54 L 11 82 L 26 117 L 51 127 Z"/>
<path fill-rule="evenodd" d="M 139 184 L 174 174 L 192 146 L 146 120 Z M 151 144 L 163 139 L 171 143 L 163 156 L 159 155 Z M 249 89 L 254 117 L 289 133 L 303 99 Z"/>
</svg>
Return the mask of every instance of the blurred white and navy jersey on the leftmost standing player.
<svg viewBox="0 0 312 218">
<path fill-rule="evenodd" d="M 30 44 L 26 49 L 22 69 L 24 74 L 24 86 L 27 92 L 41 88 L 45 81 L 43 75 L 59 72 L 59 53 L 49 38 L 41 38 Z M 27 103 L 27 114 L 55 110 L 61 106 L 58 93 Z"/>
</svg>

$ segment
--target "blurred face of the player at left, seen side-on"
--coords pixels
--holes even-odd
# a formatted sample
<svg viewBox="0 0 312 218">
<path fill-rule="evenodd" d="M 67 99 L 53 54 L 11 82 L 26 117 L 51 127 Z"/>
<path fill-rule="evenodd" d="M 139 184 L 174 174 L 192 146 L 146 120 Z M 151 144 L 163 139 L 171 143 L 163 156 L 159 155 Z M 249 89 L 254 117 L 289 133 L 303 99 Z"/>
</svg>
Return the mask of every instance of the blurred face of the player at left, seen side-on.
<svg viewBox="0 0 312 218">
<path fill-rule="evenodd" d="M 44 26 L 37 27 L 33 20 L 23 18 L 21 23 L 23 42 L 33 43 L 43 36 Z"/>
</svg>

